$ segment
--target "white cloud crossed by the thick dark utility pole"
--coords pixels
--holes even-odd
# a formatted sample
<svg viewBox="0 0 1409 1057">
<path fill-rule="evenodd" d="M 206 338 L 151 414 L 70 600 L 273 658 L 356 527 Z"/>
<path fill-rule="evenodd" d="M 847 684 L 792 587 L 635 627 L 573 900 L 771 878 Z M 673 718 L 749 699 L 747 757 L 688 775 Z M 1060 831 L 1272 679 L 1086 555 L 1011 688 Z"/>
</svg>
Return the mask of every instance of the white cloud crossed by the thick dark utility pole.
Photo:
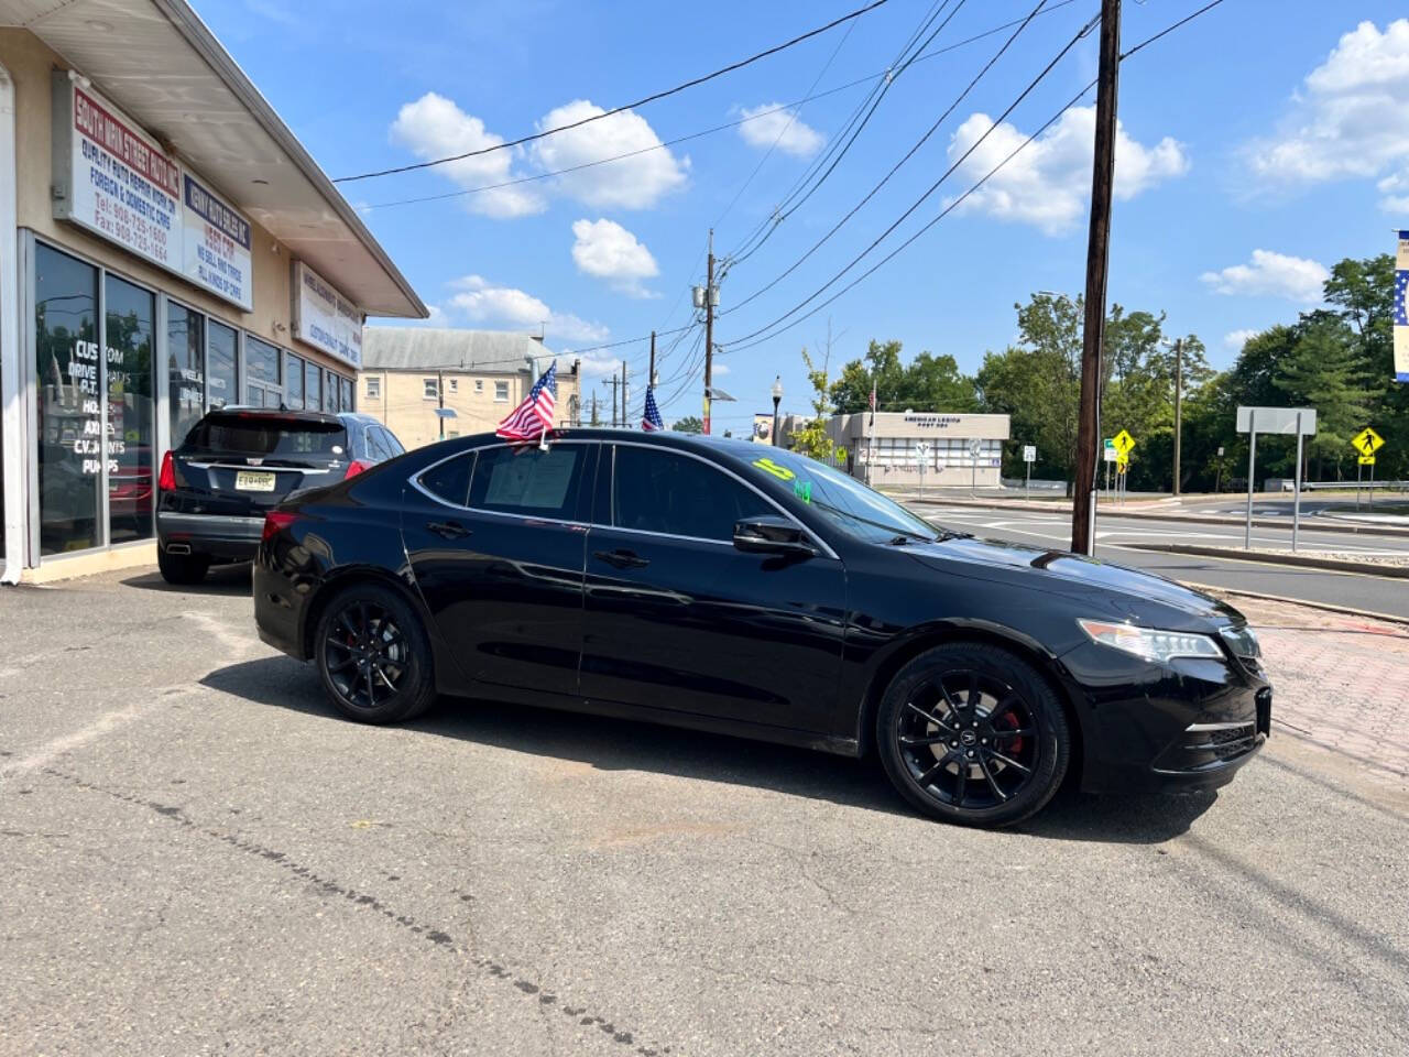
<svg viewBox="0 0 1409 1057">
<path fill-rule="evenodd" d="M 988 114 L 972 114 L 950 140 L 950 161 L 955 161 L 993 128 Z M 968 156 L 955 176 L 975 183 L 1007 158 L 1026 132 L 1005 121 Z M 999 220 L 1031 224 L 1048 235 L 1071 231 L 1091 204 L 1091 155 L 1096 140 L 1096 109 L 1071 107 L 1061 118 L 1003 165 L 961 210 L 978 210 Z M 1169 137 L 1154 147 L 1126 135 L 1116 125 L 1117 199 L 1129 200 L 1167 179 L 1189 171 L 1184 145 Z M 950 199 L 952 202 L 954 199 Z"/>
</svg>

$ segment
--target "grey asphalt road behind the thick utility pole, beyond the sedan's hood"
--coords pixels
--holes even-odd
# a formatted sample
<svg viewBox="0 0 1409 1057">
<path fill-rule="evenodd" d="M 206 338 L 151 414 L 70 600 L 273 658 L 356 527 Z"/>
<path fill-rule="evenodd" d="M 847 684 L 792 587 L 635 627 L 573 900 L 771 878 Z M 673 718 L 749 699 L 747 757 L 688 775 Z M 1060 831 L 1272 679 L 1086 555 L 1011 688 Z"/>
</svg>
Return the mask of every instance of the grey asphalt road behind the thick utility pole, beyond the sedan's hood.
<svg viewBox="0 0 1409 1057">
<path fill-rule="evenodd" d="M 907 503 L 936 524 L 975 536 L 1067 548 L 1071 544 L 1071 514 L 1022 507 L 993 510 L 941 503 Z M 1262 509 L 1262 507 L 1254 507 Z M 1265 516 L 1277 507 L 1265 507 Z M 1409 581 L 1392 576 L 1305 569 L 1267 562 L 1203 558 L 1184 554 L 1143 551 L 1136 544 L 1184 543 L 1209 547 L 1241 547 L 1240 524 L 1196 524 L 1161 521 L 1153 517 L 1106 517 L 1096 528 L 1096 555 L 1120 565 L 1150 569 L 1193 583 L 1230 591 L 1251 591 L 1306 602 L 1368 610 L 1409 619 Z M 1363 555 L 1409 555 L 1409 536 L 1367 536 L 1351 531 L 1308 531 L 1302 547 Z M 1291 526 L 1254 527 L 1254 547 L 1291 547 Z"/>
</svg>

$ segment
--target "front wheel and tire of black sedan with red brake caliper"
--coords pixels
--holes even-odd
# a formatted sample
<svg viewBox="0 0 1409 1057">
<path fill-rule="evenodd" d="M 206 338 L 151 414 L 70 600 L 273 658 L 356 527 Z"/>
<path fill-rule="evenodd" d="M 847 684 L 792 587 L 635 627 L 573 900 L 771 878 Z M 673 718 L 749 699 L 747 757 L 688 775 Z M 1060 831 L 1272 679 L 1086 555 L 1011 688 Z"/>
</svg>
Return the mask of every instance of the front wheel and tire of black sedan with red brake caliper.
<svg viewBox="0 0 1409 1057">
<path fill-rule="evenodd" d="M 1057 792 L 1071 729 L 1057 693 L 1022 657 L 950 643 L 890 681 L 876 747 L 892 785 L 924 815 L 998 827 L 1036 815 Z"/>
</svg>

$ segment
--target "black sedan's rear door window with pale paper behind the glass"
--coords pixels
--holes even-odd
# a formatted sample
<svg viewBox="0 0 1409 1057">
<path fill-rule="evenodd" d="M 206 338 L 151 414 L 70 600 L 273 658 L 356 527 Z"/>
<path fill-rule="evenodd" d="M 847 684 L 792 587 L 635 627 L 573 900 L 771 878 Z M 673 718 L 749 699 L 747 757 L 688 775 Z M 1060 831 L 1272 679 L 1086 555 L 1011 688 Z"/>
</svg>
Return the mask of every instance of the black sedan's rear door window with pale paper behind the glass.
<svg viewBox="0 0 1409 1057">
<path fill-rule="evenodd" d="M 468 506 L 526 517 L 573 520 L 588 450 L 581 444 L 482 448 Z"/>
</svg>

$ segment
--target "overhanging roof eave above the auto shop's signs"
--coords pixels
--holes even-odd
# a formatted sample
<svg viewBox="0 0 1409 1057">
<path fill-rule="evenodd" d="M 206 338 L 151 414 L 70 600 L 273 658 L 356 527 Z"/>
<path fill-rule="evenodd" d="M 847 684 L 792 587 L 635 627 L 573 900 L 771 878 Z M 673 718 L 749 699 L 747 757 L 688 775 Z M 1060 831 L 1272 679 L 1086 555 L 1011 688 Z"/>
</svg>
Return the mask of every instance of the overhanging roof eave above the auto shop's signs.
<svg viewBox="0 0 1409 1057">
<path fill-rule="evenodd" d="M 428 313 L 356 210 L 185 0 L 0 0 L 371 316 Z"/>
</svg>

